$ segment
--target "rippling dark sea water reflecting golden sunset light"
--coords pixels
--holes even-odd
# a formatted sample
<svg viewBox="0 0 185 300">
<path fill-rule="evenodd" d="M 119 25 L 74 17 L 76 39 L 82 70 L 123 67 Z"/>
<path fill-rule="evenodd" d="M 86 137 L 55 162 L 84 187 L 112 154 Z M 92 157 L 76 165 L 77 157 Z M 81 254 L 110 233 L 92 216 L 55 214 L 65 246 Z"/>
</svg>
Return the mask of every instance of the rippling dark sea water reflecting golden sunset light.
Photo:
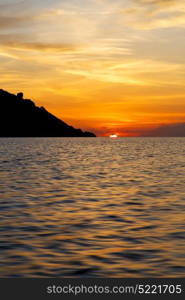
<svg viewBox="0 0 185 300">
<path fill-rule="evenodd" d="M 1 138 L 0 277 L 184 277 L 185 138 Z"/>
</svg>

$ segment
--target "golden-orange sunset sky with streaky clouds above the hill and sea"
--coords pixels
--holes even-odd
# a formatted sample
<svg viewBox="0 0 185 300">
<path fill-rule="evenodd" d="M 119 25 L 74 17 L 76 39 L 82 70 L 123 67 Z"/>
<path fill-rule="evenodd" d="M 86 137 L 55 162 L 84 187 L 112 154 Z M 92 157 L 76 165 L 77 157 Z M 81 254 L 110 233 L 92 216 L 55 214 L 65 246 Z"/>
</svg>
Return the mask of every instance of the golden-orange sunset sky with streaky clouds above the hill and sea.
<svg viewBox="0 0 185 300">
<path fill-rule="evenodd" d="M 184 0 L 0 0 L 0 88 L 98 136 L 185 123 Z"/>
</svg>

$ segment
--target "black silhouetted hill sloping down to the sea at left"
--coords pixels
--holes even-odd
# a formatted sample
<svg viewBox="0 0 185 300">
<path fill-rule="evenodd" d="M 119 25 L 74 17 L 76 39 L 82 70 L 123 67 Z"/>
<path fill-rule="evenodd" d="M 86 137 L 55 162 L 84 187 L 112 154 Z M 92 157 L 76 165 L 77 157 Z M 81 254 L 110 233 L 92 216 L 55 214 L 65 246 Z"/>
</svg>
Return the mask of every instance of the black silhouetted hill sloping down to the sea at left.
<svg viewBox="0 0 185 300">
<path fill-rule="evenodd" d="M 95 137 L 94 133 L 75 129 L 24 99 L 23 93 L 10 94 L 0 89 L 1 137 Z"/>
</svg>

